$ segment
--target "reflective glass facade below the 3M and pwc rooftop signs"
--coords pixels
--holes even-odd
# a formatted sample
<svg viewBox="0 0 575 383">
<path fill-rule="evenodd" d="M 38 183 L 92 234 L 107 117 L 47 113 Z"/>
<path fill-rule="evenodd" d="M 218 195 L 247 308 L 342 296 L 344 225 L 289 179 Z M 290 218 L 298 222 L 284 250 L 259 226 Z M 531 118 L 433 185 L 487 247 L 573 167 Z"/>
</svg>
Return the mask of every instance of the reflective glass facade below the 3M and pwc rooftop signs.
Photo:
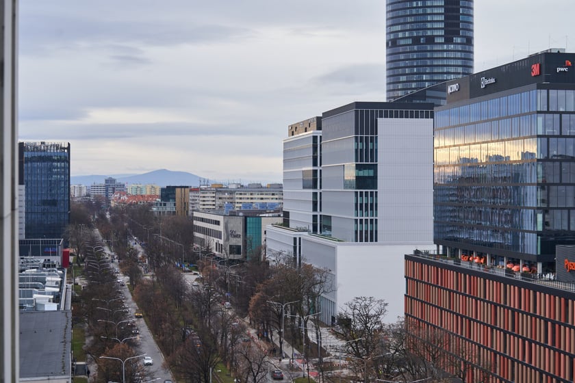
<svg viewBox="0 0 575 383">
<path fill-rule="evenodd" d="M 541 88 L 435 112 L 436 243 L 529 261 L 575 243 L 575 90 Z"/>
</svg>

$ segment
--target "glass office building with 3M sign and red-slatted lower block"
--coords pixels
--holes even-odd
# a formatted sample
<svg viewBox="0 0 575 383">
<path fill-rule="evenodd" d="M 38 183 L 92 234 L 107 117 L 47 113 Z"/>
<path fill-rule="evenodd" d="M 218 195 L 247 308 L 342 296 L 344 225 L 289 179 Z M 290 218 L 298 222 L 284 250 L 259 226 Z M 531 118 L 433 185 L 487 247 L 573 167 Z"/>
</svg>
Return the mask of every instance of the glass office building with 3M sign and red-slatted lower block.
<svg viewBox="0 0 575 383">
<path fill-rule="evenodd" d="M 405 256 L 405 319 L 455 339 L 470 382 L 575 378 L 573 62 L 551 49 L 448 81 L 435 109 L 441 255 Z"/>
</svg>

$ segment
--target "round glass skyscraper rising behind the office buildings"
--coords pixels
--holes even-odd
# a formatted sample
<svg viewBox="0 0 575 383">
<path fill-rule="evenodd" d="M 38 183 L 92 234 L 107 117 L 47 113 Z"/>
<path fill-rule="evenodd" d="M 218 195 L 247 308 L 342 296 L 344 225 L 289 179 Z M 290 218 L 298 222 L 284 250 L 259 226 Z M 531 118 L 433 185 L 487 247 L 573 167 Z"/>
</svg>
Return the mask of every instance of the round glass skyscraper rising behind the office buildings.
<svg viewBox="0 0 575 383">
<path fill-rule="evenodd" d="M 473 0 L 387 0 L 387 101 L 473 72 Z"/>
</svg>

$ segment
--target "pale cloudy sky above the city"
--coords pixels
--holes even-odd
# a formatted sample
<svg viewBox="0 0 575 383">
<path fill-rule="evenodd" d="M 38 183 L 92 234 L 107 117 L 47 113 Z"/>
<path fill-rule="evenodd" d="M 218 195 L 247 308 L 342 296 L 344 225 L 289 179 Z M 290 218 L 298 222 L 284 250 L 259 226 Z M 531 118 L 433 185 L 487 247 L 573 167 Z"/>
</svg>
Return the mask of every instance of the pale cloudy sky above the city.
<svg viewBox="0 0 575 383">
<path fill-rule="evenodd" d="M 475 71 L 575 51 L 573 0 L 476 0 Z M 385 101 L 383 0 L 23 0 L 19 139 L 71 174 L 281 182 L 288 125 Z"/>
</svg>

